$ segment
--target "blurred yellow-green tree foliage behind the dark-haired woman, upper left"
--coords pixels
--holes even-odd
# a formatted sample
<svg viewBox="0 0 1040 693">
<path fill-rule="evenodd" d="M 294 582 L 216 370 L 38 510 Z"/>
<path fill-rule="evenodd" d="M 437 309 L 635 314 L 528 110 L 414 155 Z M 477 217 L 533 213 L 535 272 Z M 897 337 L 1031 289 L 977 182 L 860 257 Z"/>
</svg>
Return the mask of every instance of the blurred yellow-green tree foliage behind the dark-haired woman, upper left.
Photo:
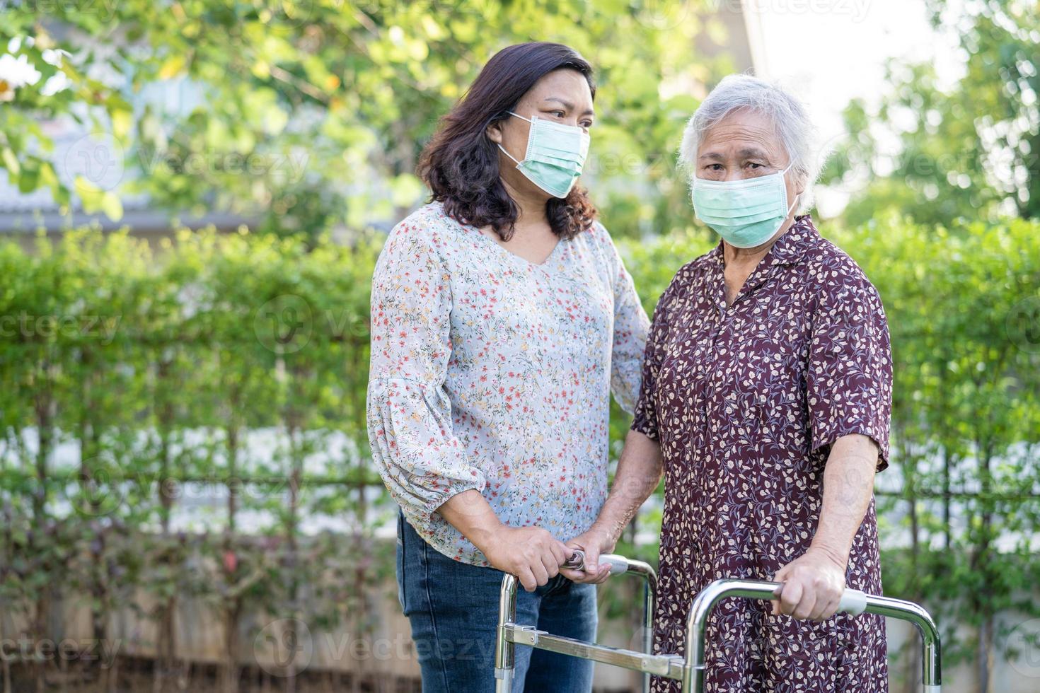
<svg viewBox="0 0 1040 693">
<path fill-rule="evenodd" d="M 231 211 L 311 236 L 392 222 L 423 195 L 418 154 L 484 62 L 510 44 L 555 41 L 598 72 L 587 184 L 617 212 L 612 228 L 664 231 L 691 217 L 673 152 L 693 95 L 735 68 L 725 50 L 691 58 L 698 36 L 726 42 L 702 5 L 180 0 L 157 11 L 124 0 L 41 15 L 7 4 L 0 42 L 40 77 L 0 91 L 0 166 L 21 190 L 49 188 L 68 205 L 38 125 L 67 115 L 142 172 L 127 192 L 175 212 Z M 112 190 L 83 177 L 74 190 L 87 211 L 121 214 Z"/>
</svg>

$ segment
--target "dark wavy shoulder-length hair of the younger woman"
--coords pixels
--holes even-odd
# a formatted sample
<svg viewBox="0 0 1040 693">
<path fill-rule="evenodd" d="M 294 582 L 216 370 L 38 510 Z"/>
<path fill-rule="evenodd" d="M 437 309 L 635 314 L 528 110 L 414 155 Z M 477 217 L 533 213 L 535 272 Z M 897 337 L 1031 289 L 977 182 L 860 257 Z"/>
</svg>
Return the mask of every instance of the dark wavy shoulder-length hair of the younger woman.
<svg viewBox="0 0 1040 693">
<path fill-rule="evenodd" d="M 498 148 L 488 138 L 492 123 L 509 117 L 517 103 L 544 75 L 569 68 L 581 73 L 593 99 L 592 65 L 561 44 L 529 43 L 495 53 L 466 95 L 441 118 L 419 158 L 417 172 L 451 218 L 475 226 L 491 224 L 503 241 L 513 237 L 520 210 L 499 179 Z M 573 238 L 596 218 L 588 191 L 574 186 L 566 198 L 550 197 L 545 214 L 552 232 Z"/>
</svg>

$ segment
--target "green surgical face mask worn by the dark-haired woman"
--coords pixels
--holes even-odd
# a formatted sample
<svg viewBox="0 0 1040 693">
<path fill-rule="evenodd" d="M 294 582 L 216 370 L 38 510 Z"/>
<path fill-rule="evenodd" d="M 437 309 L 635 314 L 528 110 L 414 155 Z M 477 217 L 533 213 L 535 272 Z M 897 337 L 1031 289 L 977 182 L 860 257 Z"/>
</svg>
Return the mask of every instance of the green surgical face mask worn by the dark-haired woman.
<svg viewBox="0 0 1040 693">
<path fill-rule="evenodd" d="M 537 115 L 528 119 L 508 112 L 530 123 L 527 152 L 523 161 L 517 161 L 501 144 L 498 149 L 516 162 L 517 169 L 528 181 L 553 197 L 566 197 L 581 176 L 589 155 L 589 133 L 576 126 L 545 121 Z"/>
</svg>

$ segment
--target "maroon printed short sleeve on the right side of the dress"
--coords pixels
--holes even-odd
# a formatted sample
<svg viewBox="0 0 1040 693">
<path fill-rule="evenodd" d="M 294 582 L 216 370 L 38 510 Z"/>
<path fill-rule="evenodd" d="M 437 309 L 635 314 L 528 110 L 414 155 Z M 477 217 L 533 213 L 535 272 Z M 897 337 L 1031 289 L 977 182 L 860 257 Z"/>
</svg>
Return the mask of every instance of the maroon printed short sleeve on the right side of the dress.
<svg viewBox="0 0 1040 693">
<path fill-rule="evenodd" d="M 824 272 L 813 314 L 806 375 L 812 449 L 860 433 L 878 445 L 888 467 L 892 355 L 888 321 L 877 289 L 854 264 Z"/>
</svg>

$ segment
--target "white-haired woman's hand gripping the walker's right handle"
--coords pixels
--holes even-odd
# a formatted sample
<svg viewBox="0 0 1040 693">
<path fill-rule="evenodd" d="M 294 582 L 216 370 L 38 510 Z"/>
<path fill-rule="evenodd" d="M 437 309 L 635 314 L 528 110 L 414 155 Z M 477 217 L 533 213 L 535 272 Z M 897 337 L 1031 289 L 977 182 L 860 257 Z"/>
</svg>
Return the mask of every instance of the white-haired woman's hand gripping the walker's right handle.
<svg viewBox="0 0 1040 693">
<path fill-rule="evenodd" d="M 779 598 L 771 599 L 773 614 L 822 621 L 838 610 L 844 591 L 846 566 L 822 549 L 809 548 L 802 556 L 777 570 L 773 576 L 783 585 Z"/>
</svg>

